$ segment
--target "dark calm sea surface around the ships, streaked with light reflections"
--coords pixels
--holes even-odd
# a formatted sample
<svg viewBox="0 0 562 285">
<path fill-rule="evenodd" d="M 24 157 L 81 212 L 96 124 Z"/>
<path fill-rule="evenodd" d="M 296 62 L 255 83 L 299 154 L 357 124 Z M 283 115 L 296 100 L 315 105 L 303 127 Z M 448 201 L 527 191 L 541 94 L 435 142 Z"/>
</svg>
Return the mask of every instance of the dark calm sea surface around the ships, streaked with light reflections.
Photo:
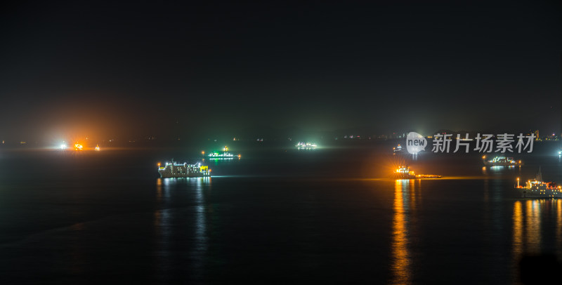
<svg viewBox="0 0 562 285">
<path fill-rule="evenodd" d="M 562 256 L 556 145 L 521 168 L 481 154 L 399 159 L 386 144 L 238 146 L 211 178 L 159 178 L 200 150 L 3 151 L 0 283 L 517 284 L 523 256 Z M 514 155 L 516 157 L 516 155 Z M 433 180 L 393 180 L 407 163 Z"/>
</svg>

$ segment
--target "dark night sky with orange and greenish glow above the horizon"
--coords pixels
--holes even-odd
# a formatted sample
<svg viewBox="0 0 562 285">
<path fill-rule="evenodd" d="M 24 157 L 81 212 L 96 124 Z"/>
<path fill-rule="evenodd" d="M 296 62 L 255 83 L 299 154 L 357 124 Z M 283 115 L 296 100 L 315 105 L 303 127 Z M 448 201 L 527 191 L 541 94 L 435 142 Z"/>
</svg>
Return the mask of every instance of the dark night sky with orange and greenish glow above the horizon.
<svg viewBox="0 0 562 285">
<path fill-rule="evenodd" d="M 48 2 L 2 4 L 0 139 L 560 127 L 558 1 Z"/>
</svg>

